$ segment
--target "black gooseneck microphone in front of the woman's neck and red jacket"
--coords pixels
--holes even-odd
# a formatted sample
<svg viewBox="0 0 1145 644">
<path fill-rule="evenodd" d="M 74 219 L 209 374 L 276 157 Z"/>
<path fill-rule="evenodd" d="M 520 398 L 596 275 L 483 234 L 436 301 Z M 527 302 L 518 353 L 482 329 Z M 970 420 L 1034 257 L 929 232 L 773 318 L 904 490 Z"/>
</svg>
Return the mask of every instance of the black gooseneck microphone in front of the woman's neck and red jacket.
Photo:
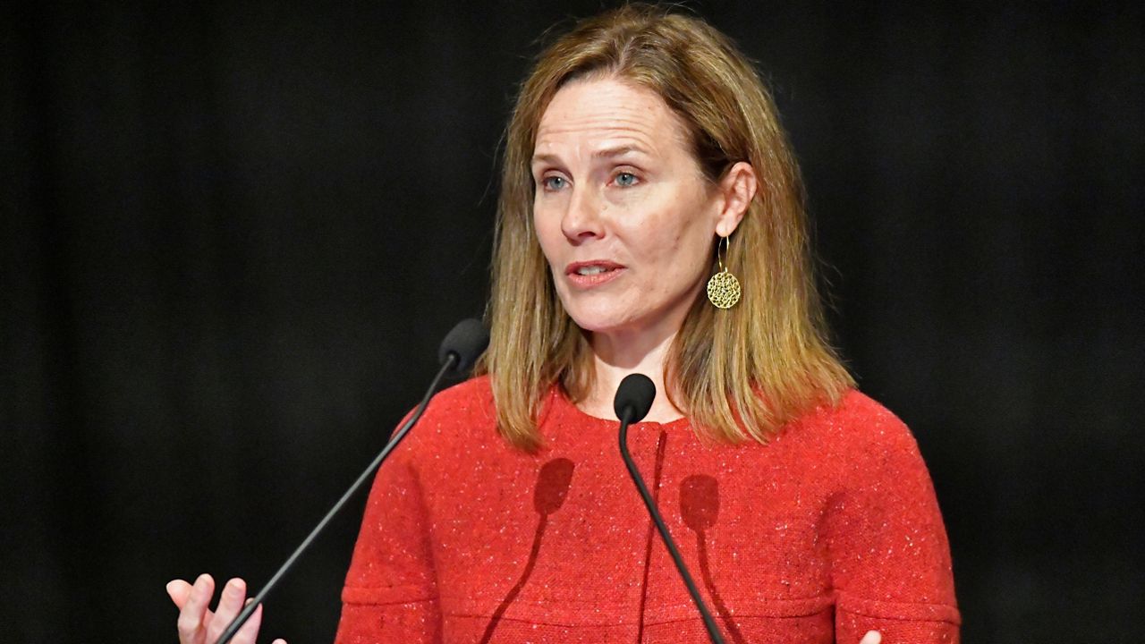
<svg viewBox="0 0 1145 644">
<path fill-rule="evenodd" d="M 684 586 L 688 587 L 688 594 L 692 595 L 692 600 L 695 602 L 696 608 L 700 611 L 700 616 L 704 620 L 708 637 L 711 638 L 713 644 L 724 644 L 724 636 L 720 635 L 719 628 L 716 626 L 716 620 L 712 619 L 711 611 L 708 610 L 703 597 L 700 596 L 696 582 L 692 581 L 692 574 L 688 573 L 688 567 L 684 565 L 684 557 L 680 556 L 679 549 L 676 548 L 672 535 L 668 533 L 668 525 L 664 524 L 663 517 L 660 516 L 656 502 L 653 501 L 652 494 L 648 493 L 648 486 L 645 485 L 643 478 L 640 477 L 640 471 L 637 470 L 635 462 L 632 461 L 632 455 L 629 454 L 629 425 L 643 419 L 648 415 L 648 410 L 652 409 L 652 401 L 655 399 L 656 385 L 643 374 L 629 374 L 621 380 L 621 386 L 616 387 L 613 409 L 616 411 L 616 417 L 621 421 L 621 457 L 624 458 L 624 466 L 629 469 L 632 482 L 637 484 L 637 490 L 640 492 L 640 497 L 643 498 L 645 506 L 648 508 L 648 513 L 652 516 L 653 523 L 656 524 L 660 537 L 664 541 L 669 555 L 672 556 L 672 561 L 676 563 L 676 570 L 680 571 Z"/>
</svg>

